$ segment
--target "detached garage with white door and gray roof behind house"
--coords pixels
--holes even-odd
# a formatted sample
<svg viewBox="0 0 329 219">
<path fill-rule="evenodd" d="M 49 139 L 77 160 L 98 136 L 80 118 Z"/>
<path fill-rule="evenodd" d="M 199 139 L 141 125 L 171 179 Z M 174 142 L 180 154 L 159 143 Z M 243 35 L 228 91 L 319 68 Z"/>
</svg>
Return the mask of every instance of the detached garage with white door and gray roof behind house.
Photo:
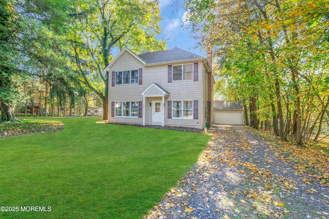
<svg viewBox="0 0 329 219">
<path fill-rule="evenodd" d="M 214 101 L 214 124 L 243 125 L 243 101 Z"/>
</svg>

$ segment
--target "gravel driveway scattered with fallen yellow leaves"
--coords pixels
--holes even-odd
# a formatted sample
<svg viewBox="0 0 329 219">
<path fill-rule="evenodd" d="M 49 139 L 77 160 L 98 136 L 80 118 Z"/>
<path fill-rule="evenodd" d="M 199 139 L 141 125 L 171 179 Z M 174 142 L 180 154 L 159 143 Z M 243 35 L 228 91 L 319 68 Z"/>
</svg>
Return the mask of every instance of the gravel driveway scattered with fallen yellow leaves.
<svg viewBox="0 0 329 219">
<path fill-rule="evenodd" d="M 229 125 L 209 132 L 197 164 L 144 218 L 329 218 L 329 188 L 257 132 Z"/>
</svg>

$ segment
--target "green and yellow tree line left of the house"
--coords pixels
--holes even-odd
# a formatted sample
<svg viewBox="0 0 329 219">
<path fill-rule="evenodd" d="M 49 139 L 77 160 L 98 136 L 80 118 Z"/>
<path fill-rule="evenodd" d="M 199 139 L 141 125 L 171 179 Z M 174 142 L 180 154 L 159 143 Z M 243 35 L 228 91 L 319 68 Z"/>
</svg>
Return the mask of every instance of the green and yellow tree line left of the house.
<svg viewBox="0 0 329 219">
<path fill-rule="evenodd" d="M 0 121 L 15 121 L 15 107 L 34 98 L 65 115 L 92 94 L 107 120 L 104 69 L 124 47 L 165 48 L 159 13 L 149 0 L 0 0 Z"/>
</svg>

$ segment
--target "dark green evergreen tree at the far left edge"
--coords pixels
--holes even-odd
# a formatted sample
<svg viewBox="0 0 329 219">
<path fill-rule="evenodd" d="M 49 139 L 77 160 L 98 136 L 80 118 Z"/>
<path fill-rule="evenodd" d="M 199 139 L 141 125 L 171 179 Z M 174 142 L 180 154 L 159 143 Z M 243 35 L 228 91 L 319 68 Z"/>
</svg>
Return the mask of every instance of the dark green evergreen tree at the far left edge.
<svg viewBox="0 0 329 219">
<path fill-rule="evenodd" d="M 13 78 L 31 73 L 25 64 L 59 68 L 64 42 L 68 1 L 4 0 L 0 2 L 0 102 L 1 121 L 15 120 L 13 106 L 19 101 Z M 64 64 L 65 65 L 65 64 Z"/>
</svg>

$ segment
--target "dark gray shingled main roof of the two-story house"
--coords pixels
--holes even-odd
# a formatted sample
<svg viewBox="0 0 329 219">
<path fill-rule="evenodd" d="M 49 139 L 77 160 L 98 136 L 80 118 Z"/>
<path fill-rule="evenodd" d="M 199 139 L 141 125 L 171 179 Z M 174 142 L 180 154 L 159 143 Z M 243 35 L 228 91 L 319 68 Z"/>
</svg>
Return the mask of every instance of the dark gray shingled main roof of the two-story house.
<svg viewBox="0 0 329 219">
<path fill-rule="evenodd" d="M 138 57 L 141 58 L 147 64 L 203 58 L 200 55 L 196 55 L 194 53 L 179 49 L 177 47 L 169 50 L 140 54 L 138 55 Z"/>
</svg>

